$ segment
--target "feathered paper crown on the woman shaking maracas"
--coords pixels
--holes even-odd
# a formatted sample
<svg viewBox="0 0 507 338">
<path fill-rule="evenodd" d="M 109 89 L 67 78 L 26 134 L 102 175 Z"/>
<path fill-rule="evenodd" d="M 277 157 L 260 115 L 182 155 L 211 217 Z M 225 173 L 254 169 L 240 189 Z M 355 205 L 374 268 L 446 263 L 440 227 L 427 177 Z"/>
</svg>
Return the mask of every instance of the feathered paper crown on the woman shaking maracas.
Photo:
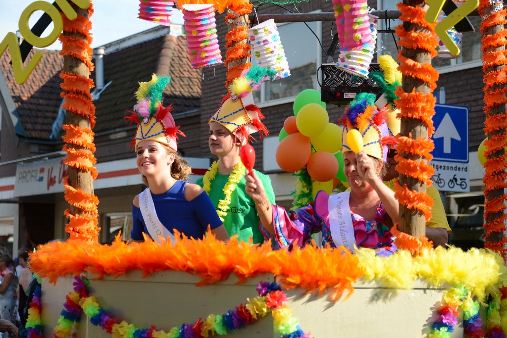
<svg viewBox="0 0 507 338">
<path fill-rule="evenodd" d="M 386 109 L 378 110 L 374 102 L 375 94 L 359 93 L 345 108 L 342 135 L 343 152 L 351 150 L 347 144 L 348 131 L 357 129 L 363 136 L 363 151 L 370 156 L 386 161 L 387 146 L 394 144 L 395 139 L 389 136 Z"/>
</svg>

